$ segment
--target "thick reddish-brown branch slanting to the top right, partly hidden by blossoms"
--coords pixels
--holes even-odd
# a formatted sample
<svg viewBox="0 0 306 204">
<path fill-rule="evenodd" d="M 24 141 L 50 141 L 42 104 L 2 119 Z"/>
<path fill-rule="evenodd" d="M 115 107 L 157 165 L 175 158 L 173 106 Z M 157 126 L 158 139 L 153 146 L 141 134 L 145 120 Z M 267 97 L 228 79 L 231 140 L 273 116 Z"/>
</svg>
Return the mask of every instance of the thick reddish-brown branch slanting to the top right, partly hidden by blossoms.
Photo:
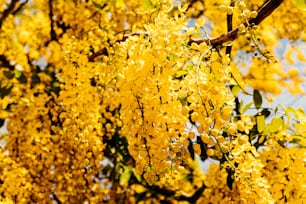
<svg viewBox="0 0 306 204">
<path fill-rule="evenodd" d="M 267 0 L 263 5 L 260 6 L 260 8 L 257 10 L 257 16 L 255 18 L 248 19 L 247 23 L 251 26 L 260 24 L 265 18 L 267 18 L 275 9 L 277 9 L 284 0 Z M 246 23 L 246 24 L 247 24 Z M 238 36 L 238 26 L 235 27 L 233 30 L 228 29 L 229 31 L 227 33 L 224 33 L 218 37 L 215 38 L 190 38 L 188 44 L 191 45 L 192 43 L 201 44 L 201 43 L 207 43 L 211 46 L 219 46 L 223 43 L 233 41 Z M 125 41 L 130 36 L 135 35 L 148 35 L 146 32 L 135 32 L 130 34 L 124 34 L 123 38 L 120 40 L 117 40 L 115 42 L 122 42 Z M 88 61 L 93 62 L 95 58 L 101 56 L 101 55 L 108 55 L 107 49 L 104 47 L 101 50 L 99 50 L 96 53 L 93 53 L 88 57 Z"/>
</svg>

